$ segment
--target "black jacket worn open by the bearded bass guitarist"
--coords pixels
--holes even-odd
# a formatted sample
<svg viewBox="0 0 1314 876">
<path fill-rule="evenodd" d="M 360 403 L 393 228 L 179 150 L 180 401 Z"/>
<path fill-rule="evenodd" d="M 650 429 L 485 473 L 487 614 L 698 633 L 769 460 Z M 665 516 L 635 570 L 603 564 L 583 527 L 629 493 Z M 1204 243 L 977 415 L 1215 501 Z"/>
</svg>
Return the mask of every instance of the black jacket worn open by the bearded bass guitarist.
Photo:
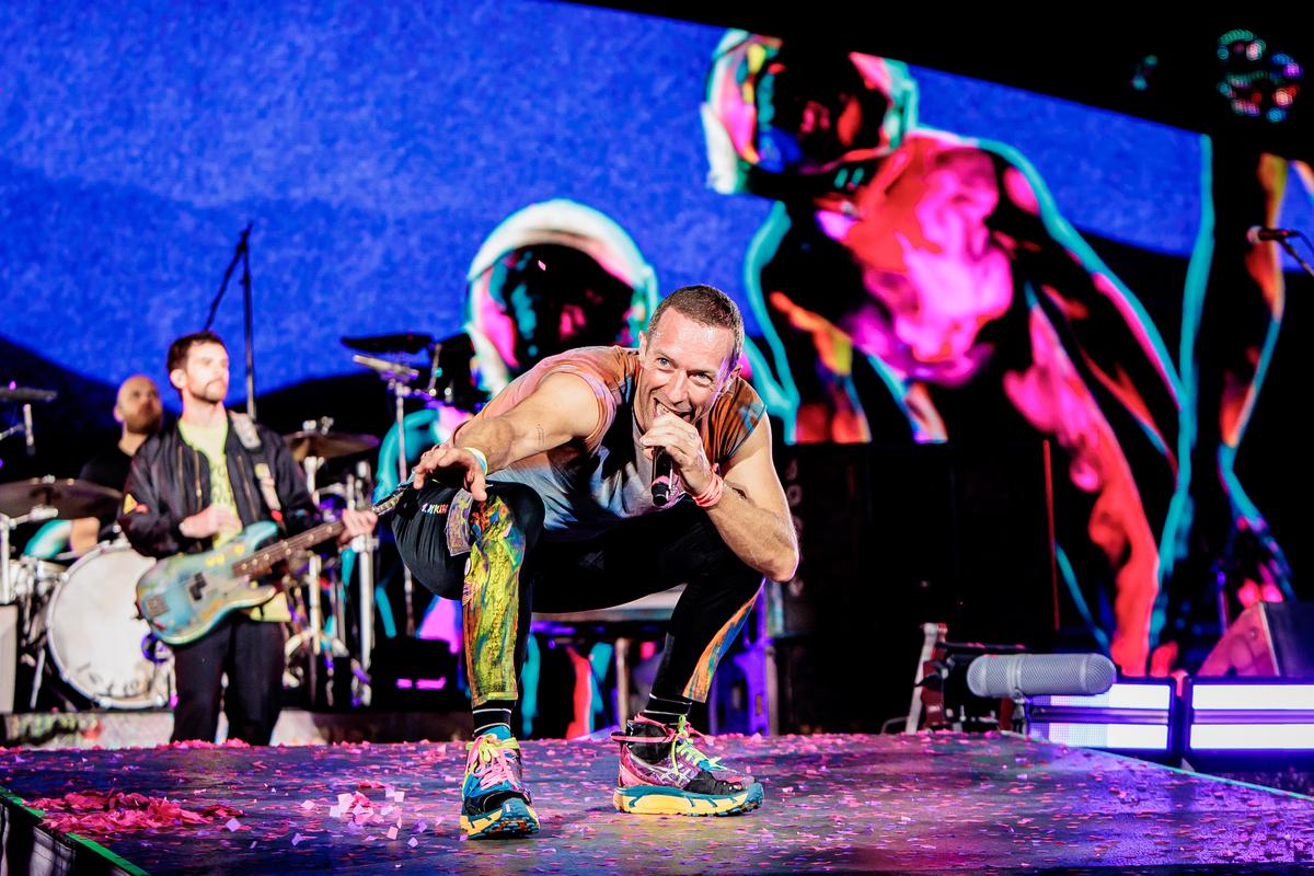
<svg viewBox="0 0 1314 876">
<path fill-rule="evenodd" d="M 277 432 L 260 424 L 255 428 L 260 448 L 248 450 L 238 437 L 233 414 L 229 414 L 223 453 L 229 461 L 238 517 L 243 527 L 248 527 L 281 516 L 288 535 L 304 532 L 317 523 L 305 475 Z M 267 465 L 273 477 L 281 515 L 275 514 L 264 500 L 258 465 Z M 179 524 L 209 504 L 210 466 L 196 448 L 183 440 L 177 424 L 172 424 L 152 435 L 133 456 L 118 525 L 133 549 L 147 557 L 208 550 L 212 538 L 188 538 L 179 532 Z"/>
</svg>

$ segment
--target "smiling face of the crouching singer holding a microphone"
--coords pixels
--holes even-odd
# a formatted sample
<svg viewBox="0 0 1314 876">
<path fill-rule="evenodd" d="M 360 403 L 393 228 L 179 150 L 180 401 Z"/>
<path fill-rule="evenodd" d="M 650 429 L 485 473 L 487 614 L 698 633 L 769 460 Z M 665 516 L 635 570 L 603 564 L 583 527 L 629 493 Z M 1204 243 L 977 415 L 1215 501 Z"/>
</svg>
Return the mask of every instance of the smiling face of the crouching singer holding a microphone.
<svg viewBox="0 0 1314 876">
<path fill-rule="evenodd" d="M 662 410 L 698 423 L 733 377 L 735 332 L 668 310 L 652 335 L 639 335 L 635 419 L 646 432 Z"/>
</svg>

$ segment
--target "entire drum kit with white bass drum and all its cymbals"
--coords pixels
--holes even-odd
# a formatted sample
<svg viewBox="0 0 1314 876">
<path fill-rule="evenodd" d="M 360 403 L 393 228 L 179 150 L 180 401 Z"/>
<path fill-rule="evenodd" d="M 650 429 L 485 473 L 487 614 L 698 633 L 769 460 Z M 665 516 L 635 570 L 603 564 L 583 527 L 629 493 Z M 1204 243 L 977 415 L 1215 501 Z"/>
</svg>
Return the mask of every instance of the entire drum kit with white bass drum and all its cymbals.
<svg viewBox="0 0 1314 876">
<path fill-rule="evenodd" d="M 380 454 L 380 464 L 394 470 L 388 471 L 381 486 L 407 477 L 406 399 L 419 398 L 427 408 L 473 411 L 486 398 L 472 378 L 473 348 L 465 335 L 442 341 L 415 332 L 342 340 L 361 353 L 353 356 L 353 361 L 384 378 L 396 399 L 396 448 Z M 431 361 L 418 366 L 398 361 L 401 356 L 420 352 L 428 352 Z M 0 386 L 0 402 L 24 403 L 22 422 L 0 432 L 0 437 L 25 432 L 30 452 L 30 402 L 53 401 L 54 397 L 47 390 Z M 364 457 L 380 447 L 380 440 L 371 435 L 338 432 L 331 427 L 330 418 L 321 418 L 284 436 L 325 519 L 336 516 L 344 507 L 368 503 L 376 479 Z M 326 466 L 328 462 L 334 465 Z M 342 464 L 353 465 L 343 471 Z M 334 471 L 331 482 L 322 483 L 330 469 Z M 14 529 L 24 524 L 108 516 L 120 507 L 120 491 L 88 481 L 47 475 L 0 483 L 0 609 L 12 607 L 17 613 L 17 658 L 33 676 L 30 691 L 24 691 L 26 701 L 14 703 L 14 708 L 35 709 L 46 682 L 51 683 L 47 690 L 54 696 L 75 709 L 84 704 L 101 709 L 170 704 L 172 655 L 150 634 L 135 604 L 137 580 L 154 559 L 135 553 L 122 537 L 97 544 L 80 556 L 68 552 L 38 558 L 14 556 L 12 550 Z M 327 696 L 328 705 L 346 705 L 331 701 L 334 688 L 344 688 L 326 684 L 327 679 L 321 675 L 326 672 L 331 679 L 343 670 L 350 672 L 352 703 L 369 701 L 377 546 L 377 537 L 361 537 L 336 557 L 310 554 L 307 566 L 297 570 L 301 586 L 289 591 L 293 629 L 286 644 L 284 682 L 285 687 L 304 688 L 310 704 Z M 352 578 L 359 584 L 356 588 L 350 587 Z M 405 579 L 405 629 L 410 633 L 414 619 L 409 574 Z M 356 603 L 352 613 L 359 613 L 353 619 L 353 647 L 347 642 L 352 625 L 348 620 L 351 602 Z"/>
</svg>

